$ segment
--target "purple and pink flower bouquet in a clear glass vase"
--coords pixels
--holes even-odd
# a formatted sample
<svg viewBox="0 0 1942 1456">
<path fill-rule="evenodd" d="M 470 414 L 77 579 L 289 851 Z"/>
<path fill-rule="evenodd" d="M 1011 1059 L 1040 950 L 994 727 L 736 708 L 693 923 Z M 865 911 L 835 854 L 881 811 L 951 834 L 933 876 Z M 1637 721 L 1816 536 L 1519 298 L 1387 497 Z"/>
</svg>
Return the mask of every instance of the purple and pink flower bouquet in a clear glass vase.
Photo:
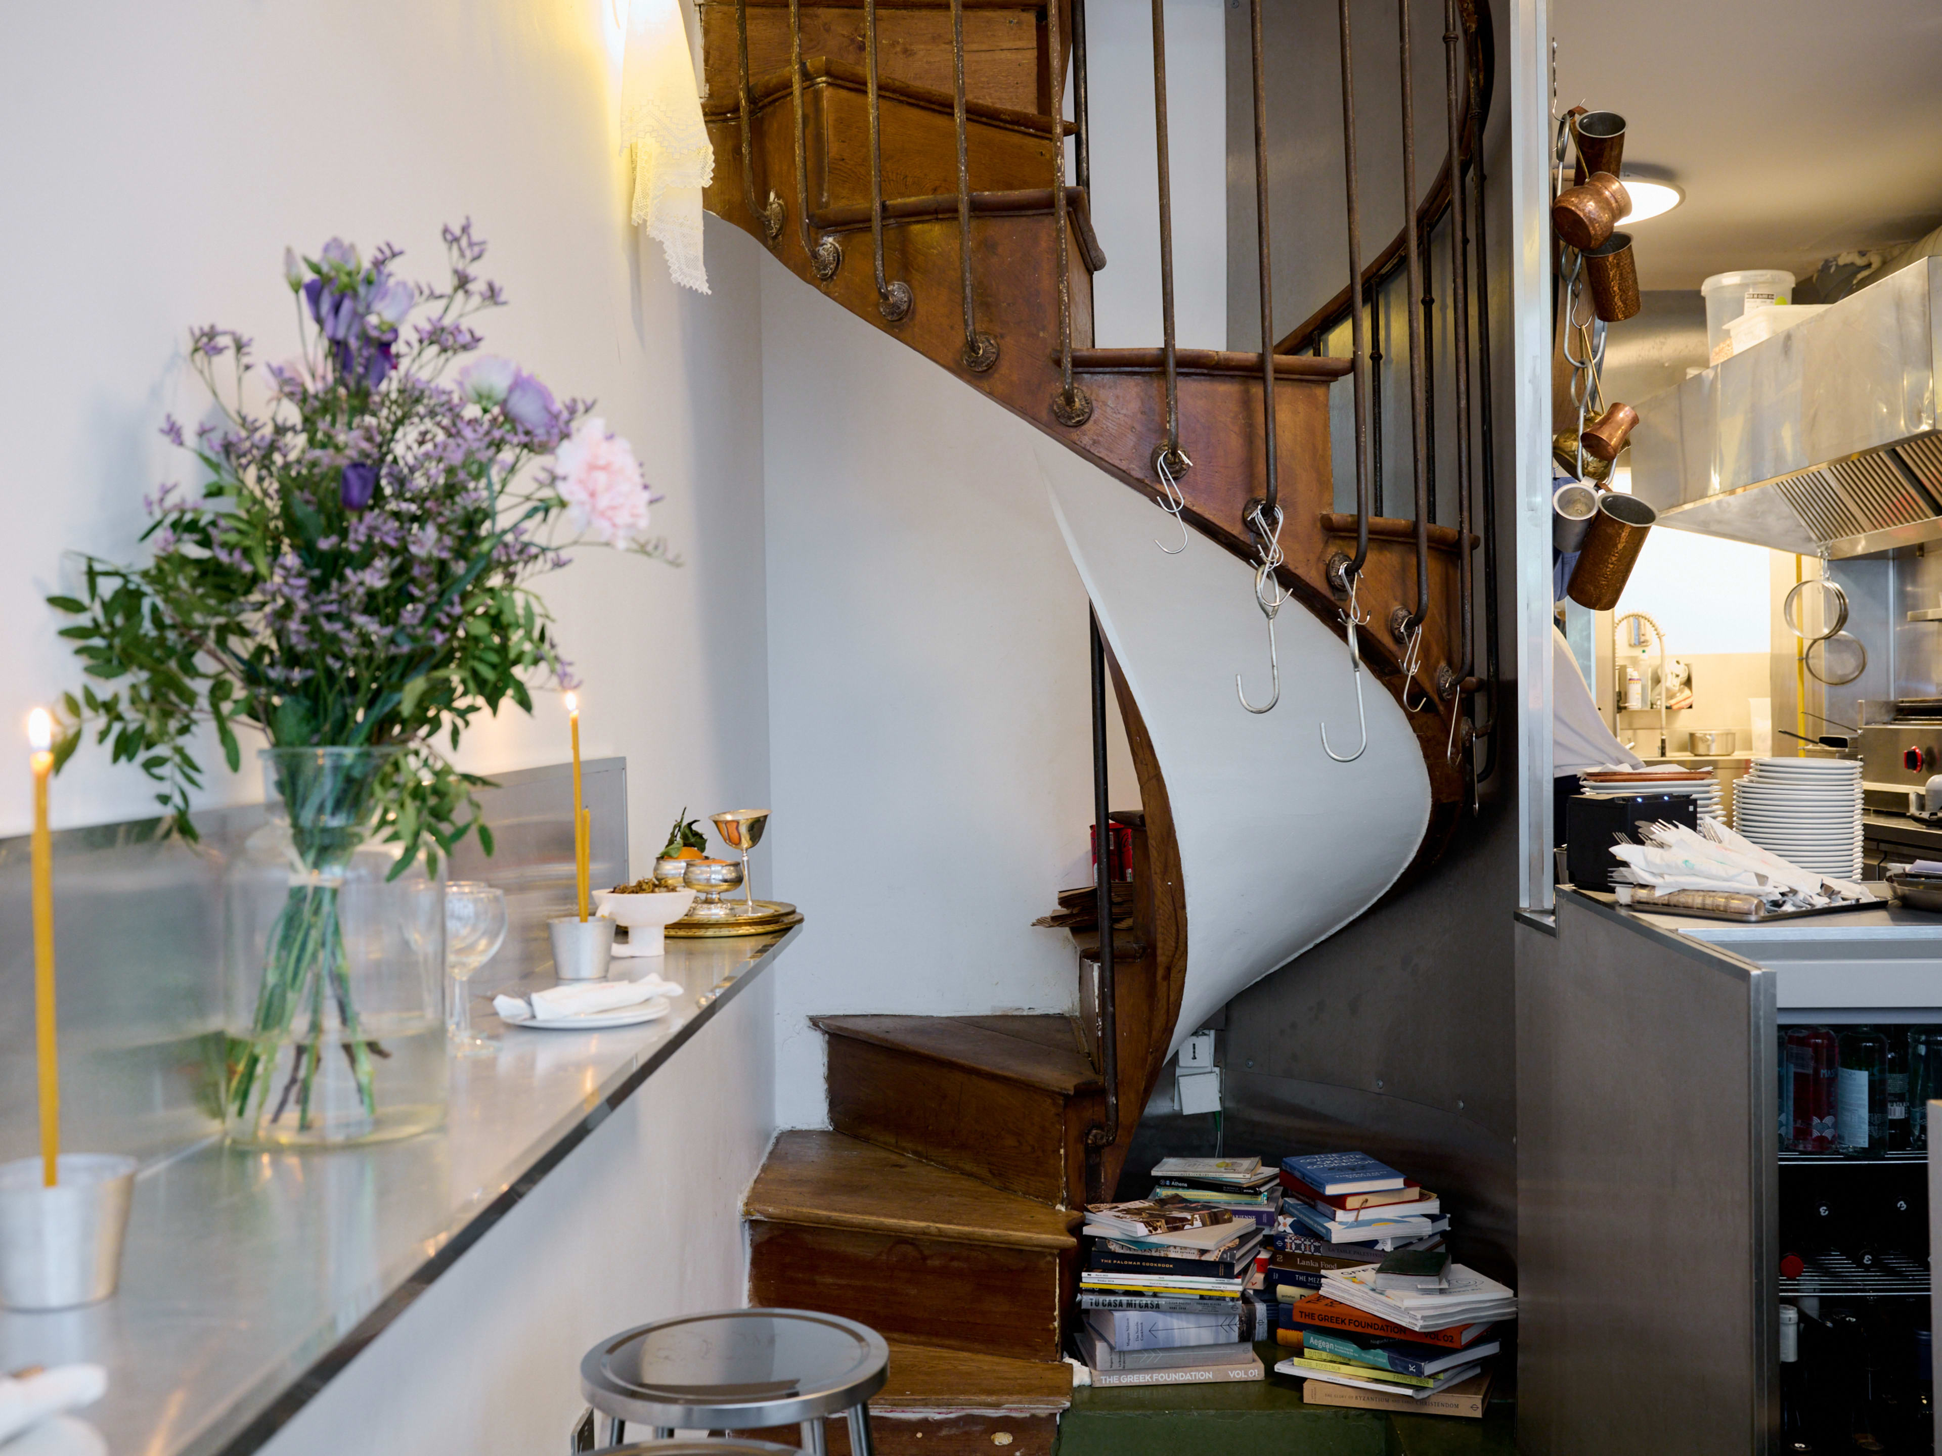
<svg viewBox="0 0 1942 1456">
<path fill-rule="evenodd" d="M 144 565 L 84 557 L 80 594 L 49 598 L 78 617 L 62 635 L 87 678 L 62 699 L 58 763 L 91 730 L 194 839 L 204 732 L 231 771 L 239 724 L 270 744 L 282 817 L 245 854 L 260 912 L 235 895 L 227 910 L 223 1112 L 245 1142 L 443 1116 L 441 854 L 472 831 L 489 854 L 491 837 L 486 780 L 441 744 L 569 679 L 532 590 L 563 546 L 678 565 L 645 540 L 654 497 L 627 443 L 478 353 L 472 320 L 505 299 L 476 272 L 470 223 L 445 247 L 439 285 L 398 278 L 390 247 L 285 250 L 303 351 L 260 375 L 251 340 L 192 330 L 216 404 L 192 435 L 175 419 L 163 435 L 206 480 L 146 501 Z"/>
</svg>

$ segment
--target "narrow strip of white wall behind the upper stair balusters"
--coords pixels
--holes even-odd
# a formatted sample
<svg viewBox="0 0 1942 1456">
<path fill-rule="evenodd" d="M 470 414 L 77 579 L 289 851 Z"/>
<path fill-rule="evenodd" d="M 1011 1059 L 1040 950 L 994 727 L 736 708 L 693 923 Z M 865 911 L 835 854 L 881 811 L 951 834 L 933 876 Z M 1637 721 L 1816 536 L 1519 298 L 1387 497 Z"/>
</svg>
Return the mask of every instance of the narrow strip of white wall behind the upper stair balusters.
<svg viewBox="0 0 1942 1456">
<path fill-rule="evenodd" d="M 1227 347 L 1225 45 L 1222 0 L 1167 6 L 1173 326 L 1183 349 Z M 1152 6 L 1091 0 L 1086 47 L 1089 200 L 1107 256 L 1093 280 L 1093 334 L 1099 347 L 1154 347 L 1161 311 Z"/>
</svg>

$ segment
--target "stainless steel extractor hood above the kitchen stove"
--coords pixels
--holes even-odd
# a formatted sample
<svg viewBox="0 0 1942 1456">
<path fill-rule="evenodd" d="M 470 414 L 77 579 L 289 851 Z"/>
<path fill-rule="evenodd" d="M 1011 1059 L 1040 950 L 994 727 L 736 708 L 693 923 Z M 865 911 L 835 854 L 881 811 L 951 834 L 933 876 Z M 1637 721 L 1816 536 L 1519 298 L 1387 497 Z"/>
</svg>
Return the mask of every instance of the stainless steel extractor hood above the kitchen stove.
<svg viewBox="0 0 1942 1456">
<path fill-rule="evenodd" d="M 1639 406 L 1658 524 L 1855 557 L 1942 540 L 1942 258 L 1923 258 Z"/>
</svg>

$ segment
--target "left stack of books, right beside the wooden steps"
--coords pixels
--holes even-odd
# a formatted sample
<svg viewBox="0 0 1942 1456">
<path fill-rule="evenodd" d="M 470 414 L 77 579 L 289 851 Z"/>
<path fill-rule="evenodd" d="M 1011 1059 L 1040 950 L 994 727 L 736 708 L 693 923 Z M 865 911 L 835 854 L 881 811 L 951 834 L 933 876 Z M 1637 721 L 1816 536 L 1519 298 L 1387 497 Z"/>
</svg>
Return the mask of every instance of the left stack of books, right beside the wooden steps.
<svg viewBox="0 0 1942 1456">
<path fill-rule="evenodd" d="M 1260 1380 L 1243 1301 L 1264 1231 L 1179 1198 L 1086 1209 L 1074 1353 L 1095 1386 Z"/>
</svg>

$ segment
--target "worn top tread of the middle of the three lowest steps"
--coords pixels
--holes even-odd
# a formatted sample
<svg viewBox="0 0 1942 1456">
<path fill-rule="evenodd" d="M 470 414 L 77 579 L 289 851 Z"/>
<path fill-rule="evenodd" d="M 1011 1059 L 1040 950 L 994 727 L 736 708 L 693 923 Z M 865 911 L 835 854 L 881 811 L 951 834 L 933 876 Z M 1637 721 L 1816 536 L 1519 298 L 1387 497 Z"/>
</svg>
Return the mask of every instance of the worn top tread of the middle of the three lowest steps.
<svg viewBox="0 0 1942 1456">
<path fill-rule="evenodd" d="M 1082 1217 L 821 1130 L 785 1132 L 775 1140 L 742 1213 L 771 1223 L 1047 1250 L 1078 1248 L 1074 1229 Z"/>
</svg>

